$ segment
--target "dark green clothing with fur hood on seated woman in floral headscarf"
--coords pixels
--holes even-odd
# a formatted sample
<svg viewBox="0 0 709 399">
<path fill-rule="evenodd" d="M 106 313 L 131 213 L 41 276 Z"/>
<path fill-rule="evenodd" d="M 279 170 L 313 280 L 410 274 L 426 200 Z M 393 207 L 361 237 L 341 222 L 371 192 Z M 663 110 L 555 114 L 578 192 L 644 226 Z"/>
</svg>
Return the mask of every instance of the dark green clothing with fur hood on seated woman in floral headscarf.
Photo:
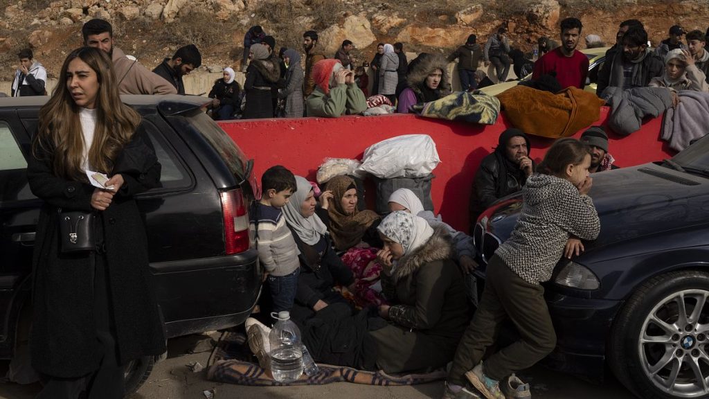
<svg viewBox="0 0 709 399">
<path fill-rule="evenodd" d="M 463 278 L 452 261 L 445 229 L 398 261 L 393 275 L 381 273 L 389 325 L 369 332 L 376 341 L 376 365 L 387 373 L 425 371 L 452 361 L 469 324 Z"/>
</svg>

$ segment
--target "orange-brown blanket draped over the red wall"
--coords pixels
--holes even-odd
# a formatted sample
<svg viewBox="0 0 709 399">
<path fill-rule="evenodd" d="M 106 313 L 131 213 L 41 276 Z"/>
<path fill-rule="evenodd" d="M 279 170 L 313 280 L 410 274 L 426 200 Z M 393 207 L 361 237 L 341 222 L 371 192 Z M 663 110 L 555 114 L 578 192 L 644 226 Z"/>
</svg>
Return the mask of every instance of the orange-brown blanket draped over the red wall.
<svg viewBox="0 0 709 399">
<path fill-rule="evenodd" d="M 596 94 L 568 87 L 557 94 L 515 86 L 497 95 L 506 119 L 535 136 L 559 138 L 591 126 L 601 118 L 603 100 Z"/>
</svg>

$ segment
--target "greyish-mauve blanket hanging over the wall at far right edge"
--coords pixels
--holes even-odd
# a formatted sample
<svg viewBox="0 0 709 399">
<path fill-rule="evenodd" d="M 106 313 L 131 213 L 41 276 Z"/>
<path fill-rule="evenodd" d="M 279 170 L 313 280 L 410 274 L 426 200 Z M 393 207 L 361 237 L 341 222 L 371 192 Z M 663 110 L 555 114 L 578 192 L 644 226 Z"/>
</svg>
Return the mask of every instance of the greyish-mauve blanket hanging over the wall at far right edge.
<svg viewBox="0 0 709 399">
<path fill-rule="evenodd" d="M 662 140 L 682 151 L 696 138 L 709 133 L 709 93 L 682 90 L 676 108 L 668 108 L 662 121 Z"/>
</svg>

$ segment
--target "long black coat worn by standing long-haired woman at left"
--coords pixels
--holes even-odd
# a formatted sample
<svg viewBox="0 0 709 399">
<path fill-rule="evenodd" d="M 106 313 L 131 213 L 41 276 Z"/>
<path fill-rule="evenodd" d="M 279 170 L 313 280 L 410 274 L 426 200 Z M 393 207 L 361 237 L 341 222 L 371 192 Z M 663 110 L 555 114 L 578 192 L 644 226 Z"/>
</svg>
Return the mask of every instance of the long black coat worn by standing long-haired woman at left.
<svg viewBox="0 0 709 399">
<path fill-rule="evenodd" d="M 160 184 L 160 163 L 143 126 L 118 155 L 113 173 L 125 183 L 99 214 L 106 241 L 106 274 L 116 327 L 118 361 L 161 354 L 165 349 L 155 295 L 150 284 L 145 224 L 133 195 Z M 76 378 L 99 368 L 104 349 L 94 323 L 94 269 L 91 254 L 60 253 L 58 209 L 90 212 L 94 187 L 52 173 L 52 151 L 28 162 L 34 195 L 45 201 L 33 258 L 32 365 L 40 373 Z"/>
</svg>

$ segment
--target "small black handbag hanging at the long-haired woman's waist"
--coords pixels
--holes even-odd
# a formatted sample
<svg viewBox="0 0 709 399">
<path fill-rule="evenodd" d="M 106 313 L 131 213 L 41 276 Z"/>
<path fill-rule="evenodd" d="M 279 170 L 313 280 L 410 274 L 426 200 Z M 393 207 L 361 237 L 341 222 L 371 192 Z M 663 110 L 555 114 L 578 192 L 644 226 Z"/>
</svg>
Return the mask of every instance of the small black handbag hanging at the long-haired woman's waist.
<svg viewBox="0 0 709 399">
<path fill-rule="evenodd" d="M 94 251 L 94 212 L 59 212 L 60 249 L 62 253 Z"/>
</svg>

